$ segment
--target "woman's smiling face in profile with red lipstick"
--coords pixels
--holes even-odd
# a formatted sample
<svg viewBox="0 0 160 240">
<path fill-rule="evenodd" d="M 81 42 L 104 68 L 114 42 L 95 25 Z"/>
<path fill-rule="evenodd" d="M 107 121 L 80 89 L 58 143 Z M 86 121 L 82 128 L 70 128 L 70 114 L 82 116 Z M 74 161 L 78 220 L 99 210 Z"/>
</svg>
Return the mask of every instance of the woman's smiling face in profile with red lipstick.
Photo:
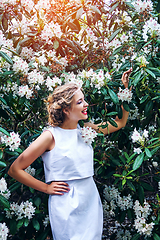
<svg viewBox="0 0 160 240">
<path fill-rule="evenodd" d="M 88 103 L 84 100 L 84 94 L 79 90 L 73 96 L 71 108 L 67 110 L 67 117 L 75 122 L 86 120 L 88 118 L 87 107 Z"/>
</svg>

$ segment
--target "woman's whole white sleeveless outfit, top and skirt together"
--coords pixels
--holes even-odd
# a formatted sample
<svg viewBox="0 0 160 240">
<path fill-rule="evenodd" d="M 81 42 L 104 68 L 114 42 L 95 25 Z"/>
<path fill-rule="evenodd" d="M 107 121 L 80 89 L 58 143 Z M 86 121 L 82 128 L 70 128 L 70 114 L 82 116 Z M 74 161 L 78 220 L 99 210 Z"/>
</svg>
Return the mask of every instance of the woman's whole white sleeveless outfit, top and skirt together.
<svg viewBox="0 0 160 240">
<path fill-rule="evenodd" d="M 77 129 L 48 129 L 55 147 L 42 155 L 46 183 L 65 181 L 70 191 L 49 196 L 54 240 L 101 240 L 103 210 L 93 180 L 93 149 Z"/>
</svg>

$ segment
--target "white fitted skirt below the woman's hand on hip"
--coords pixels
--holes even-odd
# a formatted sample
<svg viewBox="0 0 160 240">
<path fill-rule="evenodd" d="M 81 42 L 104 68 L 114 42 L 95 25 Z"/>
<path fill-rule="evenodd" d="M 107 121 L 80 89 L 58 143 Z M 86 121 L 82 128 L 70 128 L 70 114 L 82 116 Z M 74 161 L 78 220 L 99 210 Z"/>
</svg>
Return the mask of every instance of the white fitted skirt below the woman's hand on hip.
<svg viewBox="0 0 160 240">
<path fill-rule="evenodd" d="M 67 181 L 70 191 L 49 196 L 54 240 L 101 240 L 103 210 L 93 177 Z"/>
</svg>

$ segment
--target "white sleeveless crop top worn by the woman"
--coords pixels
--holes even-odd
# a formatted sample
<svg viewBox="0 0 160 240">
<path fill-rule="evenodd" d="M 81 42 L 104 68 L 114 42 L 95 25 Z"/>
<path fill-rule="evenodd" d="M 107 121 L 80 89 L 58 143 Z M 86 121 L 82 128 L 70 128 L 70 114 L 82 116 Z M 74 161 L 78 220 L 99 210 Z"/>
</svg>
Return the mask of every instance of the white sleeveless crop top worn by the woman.
<svg viewBox="0 0 160 240">
<path fill-rule="evenodd" d="M 45 181 L 67 181 L 93 176 L 93 149 L 77 129 L 51 127 L 55 147 L 42 154 Z"/>
</svg>

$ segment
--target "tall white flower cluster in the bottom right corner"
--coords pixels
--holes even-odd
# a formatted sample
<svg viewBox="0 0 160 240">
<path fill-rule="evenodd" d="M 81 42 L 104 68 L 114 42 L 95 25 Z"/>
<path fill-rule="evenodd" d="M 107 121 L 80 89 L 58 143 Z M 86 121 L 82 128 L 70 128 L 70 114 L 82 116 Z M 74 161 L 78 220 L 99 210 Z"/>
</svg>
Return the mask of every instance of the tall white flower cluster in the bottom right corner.
<svg viewBox="0 0 160 240">
<path fill-rule="evenodd" d="M 154 223 L 147 223 L 148 216 L 151 213 L 151 206 L 144 201 L 144 206 L 142 207 L 138 200 L 135 201 L 134 211 L 136 219 L 134 221 L 134 226 L 141 235 L 151 236 Z"/>
</svg>

